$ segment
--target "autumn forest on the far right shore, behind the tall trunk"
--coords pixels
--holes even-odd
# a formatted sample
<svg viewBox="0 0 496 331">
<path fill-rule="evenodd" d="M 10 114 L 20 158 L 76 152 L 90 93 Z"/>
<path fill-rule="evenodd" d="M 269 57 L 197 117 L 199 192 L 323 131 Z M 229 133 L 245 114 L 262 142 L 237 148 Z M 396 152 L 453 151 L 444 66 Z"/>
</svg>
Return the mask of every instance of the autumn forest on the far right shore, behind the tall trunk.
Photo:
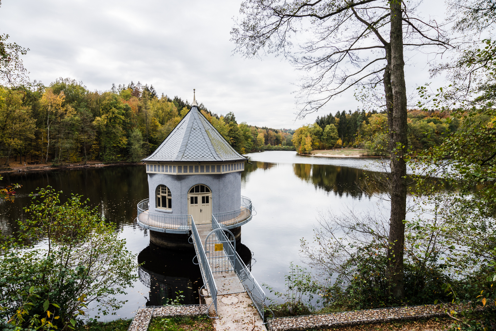
<svg viewBox="0 0 496 331">
<path fill-rule="evenodd" d="M 443 138 L 456 132 L 460 119 L 449 109 L 410 109 L 407 120 L 408 149 L 419 152 L 439 146 Z M 485 117 L 489 121 L 489 117 Z M 463 121 L 463 119 L 461 120 Z M 298 128 L 293 143 L 301 154 L 314 149 L 361 148 L 367 155 L 388 156 L 389 133 L 387 113 L 356 110 L 336 112 L 319 117 L 315 123 Z"/>
</svg>

